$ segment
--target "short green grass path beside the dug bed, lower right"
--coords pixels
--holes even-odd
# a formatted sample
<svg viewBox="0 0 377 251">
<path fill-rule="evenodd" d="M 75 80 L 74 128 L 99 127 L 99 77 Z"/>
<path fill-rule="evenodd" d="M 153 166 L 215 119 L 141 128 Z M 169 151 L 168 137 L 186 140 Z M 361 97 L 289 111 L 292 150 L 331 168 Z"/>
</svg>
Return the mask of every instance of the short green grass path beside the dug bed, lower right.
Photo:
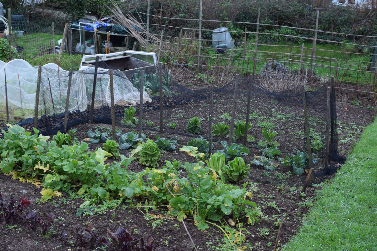
<svg viewBox="0 0 377 251">
<path fill-rule="evenodd" d="M 377 119 L 283 250 L 377 250 Z"/>
</svg>

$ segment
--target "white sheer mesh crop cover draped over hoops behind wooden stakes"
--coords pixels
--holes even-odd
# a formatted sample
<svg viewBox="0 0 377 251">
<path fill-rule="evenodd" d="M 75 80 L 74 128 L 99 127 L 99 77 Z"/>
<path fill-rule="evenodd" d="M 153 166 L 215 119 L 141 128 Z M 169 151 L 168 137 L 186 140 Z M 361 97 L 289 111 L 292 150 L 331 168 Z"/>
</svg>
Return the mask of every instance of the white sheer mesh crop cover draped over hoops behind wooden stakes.
<svg viewBox="0 0 377 251">
<path fill-rule="evenodd" d="M 140 92 L 121 71 L 114 71 L 114 102 L 116 105 L 136 105 Z M 0 119 L 6 119 L 5 76 L 8 93 L 9 119 L 13 121 L 34 117 L 38 67 L 23 59 L 8 63 L 0 61 Z M 84 111 L 92 101 L 94 68 L 86 67 L 72 73 L 68 111 Z M 55 116 L 65 112 L 69 71 L 56 64 L 41 68 L 38 117 Z M 144 102 L 152 100 L 146 92 Z M 98 68 L 95 108 L 110 105 L 109 70 Z"/>
</svg>

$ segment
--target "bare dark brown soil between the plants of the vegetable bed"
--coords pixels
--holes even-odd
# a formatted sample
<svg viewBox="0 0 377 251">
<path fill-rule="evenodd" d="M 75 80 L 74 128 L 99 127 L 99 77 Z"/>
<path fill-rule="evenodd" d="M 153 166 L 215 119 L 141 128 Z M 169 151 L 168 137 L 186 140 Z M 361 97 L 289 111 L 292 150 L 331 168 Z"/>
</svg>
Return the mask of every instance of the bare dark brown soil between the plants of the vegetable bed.
<svg viewBox="0 0 377 251">
<path fill-rule="evenodd" d="M 193 162 L 193 157 L 190 157 L 183 152 L 179 152 L 179 147 L 184 146 L 188 141 L 192 140 L 192 135 L 189 135 L 185 131 L 185 126 L 187 125 L 187 119 L 194 116 L 198 116 L 204 121 L 202 122 L 202 131 L 200 135 L 203 137 L 208 137 L 209 126 L 208 126 L 208 111 L 209 111 L 209 99 L 201 100 L 186 100 L 187 97 L 182 98 L 182 101 L 177 105 L 177 102 L 172 101 L 170 108 L 164 108 L 164 134 L 159 133 L 159 128 L 154 128 L 153 126 L 159 125 L 159 111 L 153 111 L 158 102 L 154 99 L 155 104 L 145 107 L 145 112 L 143 113 L 143 127 L 150 129 L 144 130 L 143 133 L 147 134 L 148 138 L 154 139 L 156 135 L 160 137 L 174 137 L 178 140 L 177 151 L 174 152 L 162 152 L 163 157 L 159 161 L 160 166 L 164 164 L 165 160 L 180 160 L 182 163 L 185 161 Z M 213 122 L 224 121 L 229 125 L 230 120 L 224 119 L 224 113 L 231 114 L 231 99 L 232 96 L 226 93 L 216 93 L 214 95 L 214 113 Z M 236 118 L 245 118 L 245 99 L 244 96 L 238 97 L 239 102 L 236 107 Z M 361 99 L 360 99 L 361 100 Z M 167 100 L 168 101 L 168 100 Z M 362 132 L 362 127 L 369 125 L 373 118 L 375 109 L 367 109 L 367 105 L 373 105 L 370 98 L 365 97 L 362 101 L 362 105 L 351 105 L 338 103 L 337 113 L 338 119 L 341 122 L 339 139 L 346 140 L 347 137 L 350 140 L 346 140 L 344 143 L 339 143 L 339 150 L 343 155 L 349 153 L 352 148 L 352 144 L 357 140 L 360 133 Z M 363 106 L 360 107 L 360 106 Z M 118 114 L 123 113 L 124 107 L 118 107 Z M 347 108 L 347 109 L 345 109 Z M 250 118 L 250 123 L 253 123 L 253 128 L 250 129 L 249 134 L 256 138 L 256 141 L 262 140 L 262 127 L 258 126 L 258 122 L 270 122 L 272 124 L 272 129 L 278 132 L 278 135 L 274 141 L 280 143 L 279 149 L 283 152 L 280 157 L 285 158 L 286 156 L 294 153 L 297 150 L 305 151 L 305 141 L 303 133 L 303 115 L 302 107 L 292 105 L 288 102 L 276 102 L 271 99 L 262 99 L 262 97 L 254 97 L 251 105 L 251 114 L 255 112 L 255 116 Z M 109 116 L 109 110 L 97 110 L 95 116 Z M 77 118 L 82 119 L 87 117 L 87 113 L 72 114 L 71 116 L 77 116 Z M 312 120 L 312 126 L 314 131 L 318 134 L 324 134 L 323 131 L 323 114 L 316 113 L 316 111 L 310 110 L 310 116 L 314 119 Z M 116 128 L 121 128 L 123 133 L 128 131 L 136 131 L 136 129 L 122 127 L 120 124 L 121 116 L 116 117 L 117 126 Z M 315 120 L 317 119 L 317 120 Z M 154 123 L 153 126 L 148 126 L 146 121 Z M 101 122 L 101 121 L 99 121 Z M 104 123 L 103 121 L 102 123 Z M 170 122 L 174 122 L 177 125 L 176 129 L 170 129 L 166 125 Z M 57 122 L 59 124 L 60 122 Z M 105 122 L 106 123 L 106 122 Z M 356 123 L 356 124 L 354 124 Z M 1 124 L 0 126 L 4 126 Z M 109 126 L 106 124 L 93 124 L 89 123 L 80 124 L 74 126 L 77 129 L 77 137 L 79 140 L 84 140 L 87 138 L 88 129 L 95 129 L 96 126 Z M 355 126 L 356 129 L 352 128 Z M 27 126 L 26 126 L 27 127 Z M 29 130 L 31 128 L 27 127 Z M 42 128 L 41 128 L 42 129 Z M 350 131 L 354 129 L 354 131 Z M 348 136 L 351 134 L 351 136 Z M 117 137 L 117 141 L 118 141 Z M 227 140 L 227 138 L 213 137 L 214 150 L 223 149 L 219 141 Z M 242 141 L 238 140 L 236 143 L 241 144 Z M 261 155 L 261 150 L 257 149 L 256 143 L 248 143 L 250 148 L 250 154 L 244 156 L 245 162 L 253 160 L 255 155 Z M 96 148 L 102 147 L 102 144 L 90 145 L 90 149 L 94 151 Z M 127 155 L 128 150 L 120 150 L 120 153 Z M 321 157 L 322 153 L 317 153 L 318 157 Z M 111 161 L 111 160 L 109 160 Z M 331 179 L 331 175 L 324 172 L 320 172 L 322 159 L 319 159 L 319 166 L 316 167 L 317 176 L 315 177 L 314 183 L 321 183 L 326 178 Z M 336 163 L 331 163 L 333 166 Z M 136 161 L 133 161 L 128 169 L 133 172 L 139 172 L 145 169 L 145 166 L 141 166 Z M 279 166 L 278 170 L 274 173 L 267 172 L 263 167 L 257 167 L 251 165 L 250 179 L 244 180 L 244 182 L 251 182 L 253 186 L 250 187 L 251 192 L 254 197 L 254 201 L 264 214 L 263 219 L 253 225 L 245 224 L 246 231 L 243 233 L 246 236 L 247 242 L 243 245 L 248 245 L 253 247 L 254 250 L 272 250 L 276 241 L 277 232 L 279 230 L 280 221 L 276 218 L 284 218 L 282 225 L 279 245 L 284 245 L 287 243 L 291 236 L 299 230 L 302 222 L 302 217 L 308 211 L 308 207 L 313 203 L 315 192 L 318 187 L 309 186 L 305 193 L 300 193 L 303 186 L 303 182 L 306 178 L 306 173 L 301 176 L 289 175 L 288 172 L 291 171 L 291 167 Z M 187 172 L 181 169 L 181 176 L 185 176 Z M 284 176 L 285 175 L 285 176 Z M 280 177 L 282 178 L 280 178 Z M 92 215 L 92 216 L 76 216 L 77 208 L 83 200 L 80 198 L 71 198 L 68 194 L 63 194 L 61 197 L 55 198 L 54 201 L 41 202 L 40 191 L 41 188 L 37 188 L 32 184 L 20 183 L 17 180 L 11 180 L 11 176 L 5 176 L 0 174 L 0 193 L 3 194 L 5 198 L 6 205 L 9 197 L 14 197 L 18 201 L 21 196 L 26 196 L 27 199 L 33 199 L 33 203 L 25 208 L 25 212 L 33 209 L 37 211 L 38 214 L 55 214 L 55 221 L 53 224 L 54 232 L 60 233 L 64 228 L 70 240 L 73 241 L 74 246 L 58 246 L 61 242 L 59 234 L 51 234 L 49 237 L 43 237 L 40 233 L 29 230 L 28 225 L 20 221 L 15 226 L 11 225 L 1 225 L 0 230 L 2 235 L 0 236 L 0 250 L 79 250 L 76 241 L 73 236 L 75 236 L 74 230 L 76 228 L 89 229 L 95 231 L 101 237 L 108 237 L 106 234 L 107 228 L 110 228 L 112 232 L 120 226 L 130 230 L 135 226 L 137 233 L 136 237 L 148 237 L 153 236 L 158 247 L 156 250 L 168 251 L 168 250 L 192 250 L 192 245 L 189 237 L 184 230 L 181 222 L 176 219 L 172 219 L 163 216 L 163 211 L 167 210 L 166 207 L 158 207 L 158 211 L 153 211 L 149 208 L 143 207 L 144 202 L 139 201 L 137 198 L 133 201 L 124 201 L 124 204 L 118 208 L 112 208 L 103 214 Z M 282 185 L 284 183 L 284 185 Z M 236 184 L 234 184 L 236 185 Z M 26 193 L 25 193 L 26 192 Z M 273 203 L 274 202 L 274 203 Z M 268 203 L 270 203 L 268 205 Z M 276 205 L 280 211 L 271 205 Z M 146 217 L 151 216 L 151 217 Z M 151 218 L 151 219 L 149 219 Z M 225 221 L 228 218 L 224 218 Z M 245 223 L 245 219 L 240 219 L 240 222 Z M 238 222 L 236 222 L 238 223 Z M 195 245 L 199 250 L 215 250 L 211 246 L 218 246 L 223 238 L 223 234 L 218 228 L 210 228 L 207 231 L 199 231 L 195 225 L 193 225 L 193 219 L 186 219 L 185 224 L 190 235 L 195 242 Z M 262 236 L 264 229 L 267 229 L 268 235 Z M 178 249 L 176 249 L 178 248 Z M 100 250 L 100 249 L 97 249 Z M 104 250 L 104 249 L 103 249 Z M 107 251 L 114 250 L 113 246 L 108 246 Z M 245 250 L 250 250 L 245 249 Z"/>
</svg>

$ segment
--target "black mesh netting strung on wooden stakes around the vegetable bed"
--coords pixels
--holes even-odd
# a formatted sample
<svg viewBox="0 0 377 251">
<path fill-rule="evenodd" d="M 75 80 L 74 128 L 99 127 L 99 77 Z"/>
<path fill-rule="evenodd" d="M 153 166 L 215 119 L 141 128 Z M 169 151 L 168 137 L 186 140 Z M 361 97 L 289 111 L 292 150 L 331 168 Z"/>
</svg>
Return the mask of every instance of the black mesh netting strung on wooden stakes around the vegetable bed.
<svg viewBox="0 0 377 251">
<path fill-rule="evenodd" d="M 44 135 L 64 132 L 64 114 L 67 107 L 67 126 L 90 122 L 90 109 L 93 103 L 93 123 L 111 124 L 111 85 L 113 79 L 113 101 L 115 112 L 115 124 L 117 128 L 133 127 L 124 123 L 124 109 L 133 106 L 137 109 L 135 117 L 139 114 L 140 108 L 140 85 L 141 70 L 144 72 L 143 90 L 143 121 L 144 130 L 159 131 L 159 84 L 163 84 L 164 122 L 165 133 L 177 135 L 192 135 L 186 131 L 187 120 L 193 116 L 201 116 L 202 131 L 199 132 L 204 138 L 208 138 L 212 125 L 208 123 L 208 111 L 210 100 L 210 88 L 199 90 L 189 89 L 178 84 L 170 76 L 170 71 L 158 67 L 142 67 L 135 70 L 112 70 L 106 62 L 99 61 L 96 71 L 95 64 L 84 67 L 82 70 L 68 71 L 46 68 L 42 69 L 40 99 L 38 105 L 38 129 Z M 247 109 L 247 96 L 250 88 L 251 105 L 250 120 L 253 125 L 248 134 L 255 137 L 255 141 L 248 142 L 248 147 L 258 148 L 258 141 L 263 141 L 262 129 L 276 131 L 274 141 L 282 142 L 279 146 L 283 153 L 296 153 L 297 151 L 308 152 L 307 139 L 304 126 L 303 113 L 303 92 L 302 87 L 295 87 L 280 92 L 270 92 L 259 84 L 257 78 L 240 78 L 238 87 L 235 88 L 236 78 L 233 78 L 223 87 L 214 87 L 213 123 L 224 121 L 229 125 L 230 114 L 232 113 L 233 96 L 236 94 L 236 119 L 245 121 Z M 93 97 L 93 85 L 94 99 Z M 69 88 L 70 85 L 70 88 Z M 187 85 L 186 85 L 187 86 Z M 329 160 L 342 162 L 344 158 L 339 155 L 337 149 L 337 120 L 336 100 L 334 85 L 326 82 L 318 90 L 305 91 L 306 107 L 308 112 L 308 124 L 310 131 L 309 145 L 314 157 L 323 162 L 325 158 L 325 135 L 327 117 L 327 91 L 331 88 L 329 111 L 330 111 L 330 135 L 329 135 Z M 69 90 L 68 90 L 69 89 Z M 69 93 L 69 100 L 67 97 Z M 200 104 L 196 105 L 196 104 Z M 176 124 L 172 129 L 167 125 Z M 33 119 L 26 119 L 20 123 L 24 127 L 32 127 Z M 217 137 L 217 136 L 216 136 Z M 227 140 L 227 138 L 214 138 L 216 141 Z M 242 144 L 242 139 L 236 139 L 237 144 Z M 335 170 L 326 169 L 322 173 L 332 173 Z"/>
</svg>

